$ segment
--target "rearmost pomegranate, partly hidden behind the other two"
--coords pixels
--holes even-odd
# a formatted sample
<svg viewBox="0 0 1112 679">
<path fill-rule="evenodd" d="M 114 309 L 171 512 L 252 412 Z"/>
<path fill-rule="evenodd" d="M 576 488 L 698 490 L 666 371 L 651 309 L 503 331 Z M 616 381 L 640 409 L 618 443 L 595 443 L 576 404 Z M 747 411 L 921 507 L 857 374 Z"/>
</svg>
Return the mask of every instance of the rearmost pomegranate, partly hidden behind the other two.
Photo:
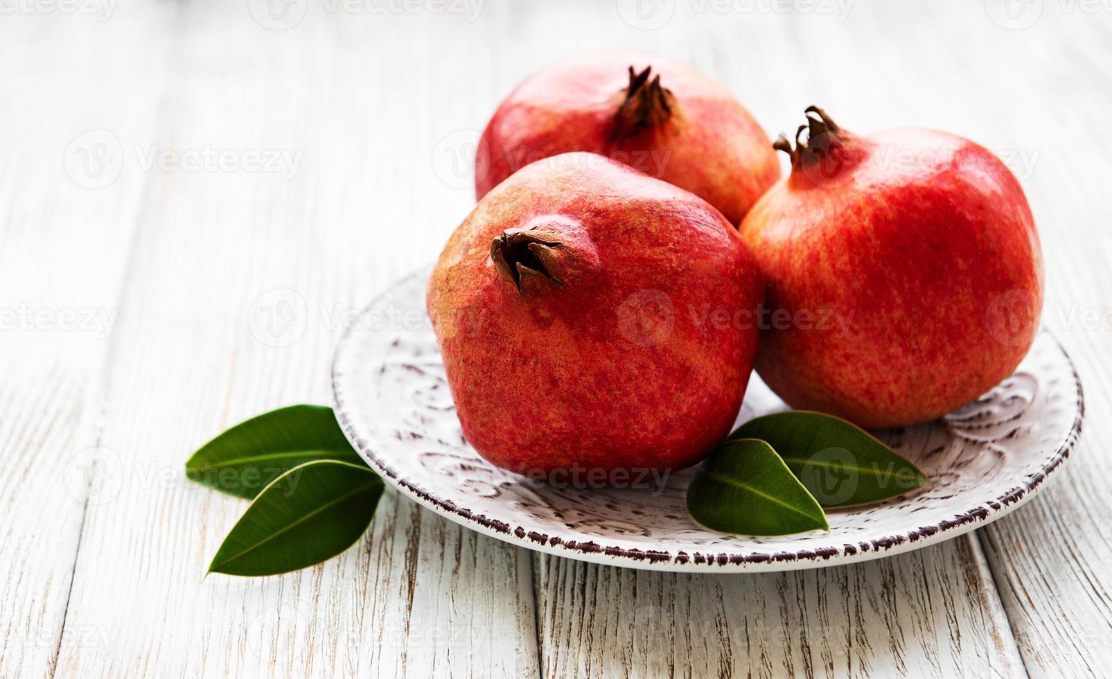
<svg viewBox="0 0 1112 679">
<path fill-rule="evenodd" d="M 669 110 L 656 107 L 658 116 L 623 124 L 629 69 L 646 67 L 645 89 L 659 77 Z M 580 56 L 523 81 L 483 132 L 476 197 L 530 162 L 568 151 L 602 153 L 687 189 L 734 224 L 780 178 L 768 136 L 729 92 L 691 67 L 643 52 Z"/>
</svg>

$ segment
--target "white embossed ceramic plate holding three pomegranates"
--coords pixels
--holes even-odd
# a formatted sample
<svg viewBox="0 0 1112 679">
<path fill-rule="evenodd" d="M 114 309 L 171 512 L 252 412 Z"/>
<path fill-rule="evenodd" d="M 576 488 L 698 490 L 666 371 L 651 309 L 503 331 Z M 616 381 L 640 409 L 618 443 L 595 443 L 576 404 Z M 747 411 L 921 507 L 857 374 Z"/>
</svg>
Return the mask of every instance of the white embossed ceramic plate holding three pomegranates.
<svg viewBox="0 0 1112 679">
<path fill-rule="evenodd" d="M 1081 383 L 1043 331 L 1019 370 L 931 425 L 877 432 L 933 485 L 906 498 L 828 512 L 830 532 L 782 538 L 703 529 L 684 506 L 693 470 L 663 489 L 532 481 L 486 462 L 463 438 L 425 314 L 428 271 L 376 299 L 336 350 L 332 389 L 356 450 L 401 492 L 499 540 L 548 553 L 672 571 L 770 571 L 864 561 L 973 530 L 1027 501 L 1081 431 Z M 786 406 L 754 375 L 738 421 Z"/>
</svg>

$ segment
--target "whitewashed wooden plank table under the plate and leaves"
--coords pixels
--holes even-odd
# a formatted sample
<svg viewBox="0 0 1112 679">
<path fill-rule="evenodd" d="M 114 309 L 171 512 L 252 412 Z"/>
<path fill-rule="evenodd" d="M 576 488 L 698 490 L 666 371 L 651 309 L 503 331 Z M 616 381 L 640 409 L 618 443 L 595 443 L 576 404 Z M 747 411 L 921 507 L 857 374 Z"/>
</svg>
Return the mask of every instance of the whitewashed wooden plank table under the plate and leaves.
<svg viewBox="0 0 1112 679">
<path fill-rule="evenodd" d="M 0 2 L 0 677 L 1106 675 L 1112 6 L 451 2 Z M 1064 473 L 853 567 L 590 566 L 390 492 L 340 558 L 202 580 L 245 505 L 186 457 L 328 402 L 344 312 L 470 209 L 498 100 L 609 46 L 697 66 L 771 134 L 817 103 L 1004 157 L 1086 392 Z"/>
</svg>

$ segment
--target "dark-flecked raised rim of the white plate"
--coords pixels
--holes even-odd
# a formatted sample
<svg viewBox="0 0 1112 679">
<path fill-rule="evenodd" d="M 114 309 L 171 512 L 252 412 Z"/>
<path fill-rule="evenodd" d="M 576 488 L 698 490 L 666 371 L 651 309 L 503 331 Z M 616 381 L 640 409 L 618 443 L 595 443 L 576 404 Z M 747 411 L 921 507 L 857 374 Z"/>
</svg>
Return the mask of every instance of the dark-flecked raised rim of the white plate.
<svg viewBox="0 0 1112 679">
<path fill-rule="evenodd" d="M 427 269 L 423 267 L 407 276 L 399 278 L 386 290 L 379 292 L 364 308 L 370 311 L 376 302 L 390 289 L 404 281 L 419 277 Z M 496 539 L 526 547 L 534 551 L 540 551 L 558 557 L 603 563 L 608 566 L 624 566 L 644 570 L 659 570 L 674 572 L 759 572 L 759 571 L 787 571 L 803 570 L 810 568 L 823 568 L 825 566 L 841 566 L 845 563 L 856 563 L 871 561 L 883 557 L 895 556 L 956 538 L 976 528 L 994 521 L 1015 509 L 1022 507 L 1042 488 L 1043 482 L 1053 476 L 1062 466 L 1062 462 L 1070 457 L 1074 446 L 1081 436 L 1082 423 L 1085 415 L 1084 393 L 1081 386 L 1081 378 L 1078 375 L 1076 366 L 1070 357 L 1061 340 L 1048 328 L 1040 329 L 1040 333 L 1045 333 L 1052 340 L 1066 363 L 1073 378 L 1076 389 L 1076 410 L 1073 425 L 1066 433 L 1065 439 L 1059 445 L 1054 455 L 1043 465 L 1042 469 L 1027 477 L 1027 480 L 1012 488 L 994 500 L 981 501 L 976 506 L 954 515 L 953 519 L 943 520 L 930 526 L 919 526 L 912 530 L 873 539 L 867 542 L 856 545 L 845 543 L 840 551 L 834 548 L 825 549 L 802 549 L 797 551 L 767 551 L 752 552 L 747 555 L 729 552 L 686 552 L 683 550 L 642 550 L 628 549 L 617 545 L 606 545 L 602 540 L 563 540 L 559 537 L 548 538 L 548 536 L 528 530 L 523 526 L 512 526 L 506 521 L 493 519 L 483 513 L 476 513 L 465 507 L 459 507 L 451 500 L 437 497 L 420 486 L 401 477 L 389 463 L 376 456 L 370 442 L 364 439 L 356 430 L 353 419 L 348 416 L 347 401 L 344 388 L 340 386 L 342 379 L 339 366 L 345 352 L 353 343 L 359 327 L 357 324 L 348 327 L 340 341 L 336 346 L 331 365 L 331 390 L 335 406 L 336 419 L 340 429 L 348 438 L 356 451 L 368 465 L 383 475 L 391 486 L 397 488 L 411 500 L 426 507 L 434 512 L 470 528 L 477 532 L 494 537 Z M 835 562 L 830 561 L 834 559 Z"/>
</svg>

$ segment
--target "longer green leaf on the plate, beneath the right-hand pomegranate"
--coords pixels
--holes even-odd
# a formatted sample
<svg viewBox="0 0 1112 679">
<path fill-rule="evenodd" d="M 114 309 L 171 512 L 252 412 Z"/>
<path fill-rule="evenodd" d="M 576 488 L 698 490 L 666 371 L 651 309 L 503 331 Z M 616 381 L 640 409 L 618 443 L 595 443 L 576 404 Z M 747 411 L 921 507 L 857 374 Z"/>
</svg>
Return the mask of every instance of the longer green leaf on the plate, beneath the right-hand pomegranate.
<svg viewBox="0 0 1112 679">
<path fill-rule="evenodd" d="M 753 418 L 729 438 L 767 441 L 823 507 L 886 500 L 931 482 L 864 429 L 822 412 Z"/>
</svg>

